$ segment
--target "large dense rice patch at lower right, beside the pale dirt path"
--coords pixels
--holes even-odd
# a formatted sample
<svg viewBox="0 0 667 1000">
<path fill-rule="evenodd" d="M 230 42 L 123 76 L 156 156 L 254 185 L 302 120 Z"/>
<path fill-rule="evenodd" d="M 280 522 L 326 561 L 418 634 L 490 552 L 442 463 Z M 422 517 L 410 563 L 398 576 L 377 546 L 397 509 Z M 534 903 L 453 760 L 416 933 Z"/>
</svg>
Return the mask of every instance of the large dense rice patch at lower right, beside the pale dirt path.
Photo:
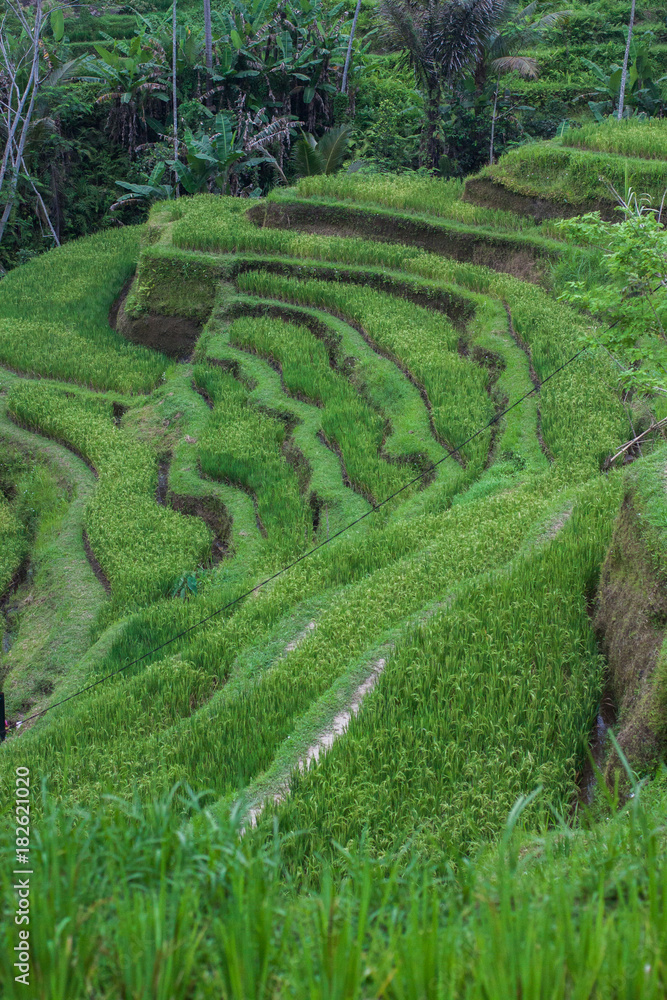
<svg viewBox="0 0 667 1000">
<path fill-rule="evenodd" d="M 294 864 L 362 833 L 376 856 L 408 838 L 467 854 L 537 785 L 545 821 L 549 803 L 566 808 L 602 683 L 585 591 L 619 486 L 596 483 L 546 547 L 473 582 L 397 645 L 345 739 L 293 776 L 279 816 L 307 831 Z"/>
</svg>

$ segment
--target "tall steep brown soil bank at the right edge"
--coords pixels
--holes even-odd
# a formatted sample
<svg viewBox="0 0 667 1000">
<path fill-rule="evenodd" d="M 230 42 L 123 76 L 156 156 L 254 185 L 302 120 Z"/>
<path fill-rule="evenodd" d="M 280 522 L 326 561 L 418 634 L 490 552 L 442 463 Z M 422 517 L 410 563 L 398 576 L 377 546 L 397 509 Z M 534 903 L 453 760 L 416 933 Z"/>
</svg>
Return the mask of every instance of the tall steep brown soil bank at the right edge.
<svg viewBox="0 0 667 1000">
<path fill-rule="evenodd" d="M 665 668 L 659 659 L 667 628 L 667 587 L 656 573 L 630 493 L 602 568 L 594 624 L 619 709 L 618 742 L 635 769 L 649 770 L 667 747 Z M 613 753 L 605 772 L 609 782 L 618 769 Z"/>
</svg>

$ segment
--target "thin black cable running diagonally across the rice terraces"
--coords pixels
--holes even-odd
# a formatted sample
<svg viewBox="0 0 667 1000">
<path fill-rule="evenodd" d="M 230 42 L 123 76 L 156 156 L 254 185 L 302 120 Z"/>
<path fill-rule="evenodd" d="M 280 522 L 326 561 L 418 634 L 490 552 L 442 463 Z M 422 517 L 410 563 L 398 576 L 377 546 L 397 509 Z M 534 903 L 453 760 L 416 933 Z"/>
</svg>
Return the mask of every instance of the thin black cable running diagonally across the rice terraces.
<svg viewBox="0 0 667 1000">
<path fill-rule="evenodd" d="M 172 636 L 171 639 L 165 640 L 165 642 L 160 643 L 160 645 L 156 646 L 154 649 L 150 649 L 147 653 L 143 653 L 141 656 L 138 656 L 135 660 L 131 660 L 129 663 L 126 663 L 124 667 L 119 667 L 118 670 L 113 670 L 110 674 L 105 674 L 104 677 L 100 677 L 98 680 L 93 681 L 92 684 L 88 684 L 86 687 L 81 688 L 79 691 L 75 691 L 74 694 L 68 695 L 67 698 L 63 698 L 61 699 L 61 701 L 57 701 L 55 702 L 55 704 L 49 705 L 47 708 L 42 709 L 41 712 L 35 712 L 34 715 L 29 715 L 27 719 L 22 719 L 20 722 L 15 722 L 13 728 L 18 729 L 26 722 L 31 722 L 32 719 L 38 719 L 42 715 L 46 715 L 46 713 L 50 712 L 52 708 L 58 708 L 60 705 L 64 705 L 65 702 L 71 701 L 72 698 L 78 698 L 80 695 L 85 694 L 86 691 L 92 690 L 92 688 L 97 687 L 98 684 L 103 684 L 105 681 L 110 680 L 112 677 L 116 677 L 117 674 L 122 674 L 125 670 L 129 670 L 130 667 L 134 667 L 136 666 L 137 663 L 141 663 L 141 661 L 145 660 L 148 656 L 152 656 L 154 653 L 158 653 L 161 649 L 164 649 L 165 646 L 170 646 L 173 642 L 176 642 L 178 639 L 182 639 L 184 635 L 188 635 L 189 632 L 192 632 L 194 629 L 199 628 L 200 625 L 205 625 L 206 622 L 210 621 L 212 618 L 217 617 L 217 615 L 222 614 L 223 611 L 227 611 L 229 608 L 233 608 L 235 604 L 239 604 L 241 601 L 245 600 L 246 597 L 250 597 L 250 595 L 254 594 L 255 591 L 260 590 L 262 587 L 265 587 L 267 583 L 271 583 L 273 580 L 276 580 L 279 576 L 282 576 L 283 573 L 287 573 L 288 570 L 293 569 L 294 566 L 302 562 L 304 559 L 307 559 L 308 556 L 312 556 L 312 554 L 314 552 L 317 552 L 318 549 L 322 549 L 324 548 L 325 545 L 329 545 L 331 542 L 334 541 L 334 539 L 339 538 L 340 535 L 344 534 L 346 531 L 349 531 L 350 528 L 354 528 L 354 526 L 359 524 L 360 521 L 365 520 L 365 518 L 369 517 L 376 510 L 379 510 L 380 507 L 384 507 L 384 505 L 386 503 L 389 503 L 390 500 L 393 500 L 395 497 L 399 496 L 405 490 L 409 489 L 410 486 L 413 486 L 415 483 L 419 482 L 420 479 L 423 479 L 424 476 L 428 475 L 428 473 L 432 472 L 439 465 L 442 465 L 442 463 L 446 462 L 448 458 L 452 457 L 452 455 L 460 453 L 461 448 L 465 448 L 467 444 L 470 444 L 471 441 L 474 441 L 476 437 L 479 437 L 480 434 L 483 434 L 484 431 L 488 430 L 489 427 L 497 423 L 502 417 L 508 414 L 510 410 L 513 410 L 516 406 L 519 406 L 520 403 L 523 403 L 525 399 L 528 399 L 529 396 L 532 396 L 533 393 L 539 392 L 542 386 L 545 385 L 550 379 L 552 379 L 554 375 L 557 375 L 558 372 L 563 371 L 564 368 L 567 368 L 568 365 L 571 365 L 573 361 L 576 361 L 577 358 L 580 357 L 580 355 L 582 355 L 584 351 L 587 350 L 588 350 L 587 347 L 582 347 L 580 351 L 577 351 L 576 354 L 572 355 L 569 361 L 565 361 L 562 365 L 560 365 L 558 368 L 552 371 L 551 374 L 547 375 L 545 379 L 542 379 L 539 385 L 533 386 L 533 388 L 529 392 L 524 393 L 524 395 L 521 396 L 520 399 L 517 399 L 516 402 L 512 403 L 511 406 L 508 406 L 500 413 L 496 413 L 495 416 L 493 416 L 487 424 L 484 424 L 483 427 L 480 427 L 479 430 L 476 430 L 473 434 L 470 435 L 470 437 L 466 438 L 465 441 L 462 441 L 460 445 L 457 445 L 457 447 L 454 448 L 452 451 L 447 452 L 446 455 L 438 459 L 437 462 L 434 462 L 433 465 L 430 465 L 427 469 L 424 469 L 413 479 L 410 479 L 407 483 L 405 483 L 405 485 L 401 486 L 400 489 L 396 490 L 394 493 L 391 493 L 388 497 L 385 497 L 384 500 L 381 500 L 380 503 L 375 504 L 375 506 L 371 507 L 370 510 L 367 510 L 365 513 L 361 514 L 360 517 L 357 517 L 354 521 L 350 521 L 349 524 L 344 525 L 344 527 L 340 528 L 334 535 L 331 536 L 331 538 L 327 538 L 326 541 L 319 542 L 312 549 L 308 549 L 307 552 L 303 552 L 300 556 L 297 556 L 297 558 L 294 559 L 291 563 L 288 563 L 287 566 L 283 566 L 282 569 L 279 569 L 272 576 L 267 576 L 265 580 L 262 580 L 261 583 L 258 583 L 256 587 L 252 588 L 252 590 L 247 590 L 244 594 L 241 594 L 239 597 L 235 597 L 233 601 L 229 601 L 229 603 L 224 604 L 221 608 L 218 608 L 216 611 L 212 611 L 210 615 L 206 615 L 205 618 L 201 618 L 198 622 L 195 622 L 194 625 L 189 625 L 188 628 L 183 629 L 182 632 L 178 632 L 177 635 Z"/>
</svg>

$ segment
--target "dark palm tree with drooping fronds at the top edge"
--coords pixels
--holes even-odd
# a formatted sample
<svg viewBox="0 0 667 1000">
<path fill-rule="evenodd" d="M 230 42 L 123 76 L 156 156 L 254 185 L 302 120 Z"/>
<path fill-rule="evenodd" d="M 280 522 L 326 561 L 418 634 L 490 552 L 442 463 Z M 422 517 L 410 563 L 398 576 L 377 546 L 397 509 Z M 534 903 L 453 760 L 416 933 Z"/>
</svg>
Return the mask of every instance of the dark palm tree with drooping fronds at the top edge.
<svg viewBox="0 0 667 1000">
<path fill-rule="evenodd" d="M 443 91 L 478 58 L 500 22 L 507 0 L 382 0 L 387 39 L 405 50 L 426 96 L 422 162 L 436 166 L 436 131 Z"/>
</svg>

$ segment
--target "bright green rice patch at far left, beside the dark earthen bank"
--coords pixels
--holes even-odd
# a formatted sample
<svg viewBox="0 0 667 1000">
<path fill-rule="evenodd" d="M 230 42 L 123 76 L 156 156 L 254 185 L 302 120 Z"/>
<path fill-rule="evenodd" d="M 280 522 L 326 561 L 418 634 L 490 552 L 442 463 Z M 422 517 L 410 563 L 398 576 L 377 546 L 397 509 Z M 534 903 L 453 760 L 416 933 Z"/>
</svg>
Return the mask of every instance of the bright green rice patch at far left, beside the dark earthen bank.
<svg viewBox="0 0 667 1000">
<path fill-rule="evenodd" d="M 92 389 L 149 392 L 167 361 L 109 327 L 140 227 L 105 230 L 15 268 L 0 285 L 0 364 Z"/>
</svg>

